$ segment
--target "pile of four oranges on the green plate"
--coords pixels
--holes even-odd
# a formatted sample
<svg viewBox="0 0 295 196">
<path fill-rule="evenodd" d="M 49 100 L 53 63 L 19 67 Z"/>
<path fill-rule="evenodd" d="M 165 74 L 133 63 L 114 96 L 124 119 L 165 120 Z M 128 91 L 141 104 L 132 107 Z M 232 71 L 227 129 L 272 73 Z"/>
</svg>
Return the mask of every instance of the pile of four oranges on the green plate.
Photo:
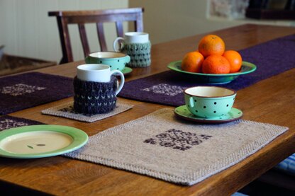
<svg viewBox="0 0 295 196">
<path fill-rule="evenodd" d="M 226 50 L 217 35 L 206 35 L 199 42 L 198 50 L 185 54 L 182 70 L 203 74 L 229 74 L 240 71 L 242 57 L 235 50 Z"/>
</svg>

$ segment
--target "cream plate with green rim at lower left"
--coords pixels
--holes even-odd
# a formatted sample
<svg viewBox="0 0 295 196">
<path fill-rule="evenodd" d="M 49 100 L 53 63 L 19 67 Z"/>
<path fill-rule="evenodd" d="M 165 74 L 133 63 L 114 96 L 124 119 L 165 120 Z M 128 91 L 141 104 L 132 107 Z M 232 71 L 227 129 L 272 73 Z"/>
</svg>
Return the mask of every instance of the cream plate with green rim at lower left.
<svg viewBox="0 0 295 196">
<path fill-rule="evenodd" d="M 61 125 L 30 125 L 0 132 L 0 156 L 42 158 L 77 150 L 88 141 L 80 129 Z"/>
</svg>

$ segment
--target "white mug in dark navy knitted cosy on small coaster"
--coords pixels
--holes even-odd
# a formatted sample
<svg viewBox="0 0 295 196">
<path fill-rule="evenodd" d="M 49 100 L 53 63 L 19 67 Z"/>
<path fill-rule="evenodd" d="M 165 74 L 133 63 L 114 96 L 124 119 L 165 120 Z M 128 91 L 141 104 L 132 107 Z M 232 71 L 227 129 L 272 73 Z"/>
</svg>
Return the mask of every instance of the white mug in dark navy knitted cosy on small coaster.
<svg viewBox="0 0 295 196">
<path fill-rule="evenodd" d="M 120 84 L 116 76 L 121 77 Z M 124 84 L 121 71 L 105 64 L 83 64 L 74 78 L 74 111 L 84 115 L 111 112 L 116 108 L 116 95 Z"/>
</svg>

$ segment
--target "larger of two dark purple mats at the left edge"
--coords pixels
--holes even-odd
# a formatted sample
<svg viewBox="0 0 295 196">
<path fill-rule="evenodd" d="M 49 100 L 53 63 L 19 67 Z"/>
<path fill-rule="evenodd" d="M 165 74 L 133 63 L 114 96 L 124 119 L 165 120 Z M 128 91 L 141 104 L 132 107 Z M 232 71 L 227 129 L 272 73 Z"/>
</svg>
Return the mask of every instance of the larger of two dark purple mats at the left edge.
<svg viewBox="0 0 295 196">
<path fill-rule="evenodd" d="M 0 79 L 0 115 L 73 96 L 72 79 L 31 72 Z"/>
</svg>

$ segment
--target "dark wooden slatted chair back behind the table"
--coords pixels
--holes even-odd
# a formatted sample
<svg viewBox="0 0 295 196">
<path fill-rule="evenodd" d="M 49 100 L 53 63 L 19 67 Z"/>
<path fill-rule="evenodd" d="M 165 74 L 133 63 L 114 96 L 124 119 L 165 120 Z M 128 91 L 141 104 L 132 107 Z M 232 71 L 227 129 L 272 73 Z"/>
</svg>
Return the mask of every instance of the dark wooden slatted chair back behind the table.
<svg viewBox="0 0 295 196">
<path fill-rule="evenodd" d="M 56 16 L 57 18 L 60 42 L 62 45 L 62 59 L 60 64 L 74 61 L 67 27 L 68 24 L 78 25 L 84 56 L 86 57 L 90 53 L 90 50 L 85 23 L 96 23 L 101 51 L 107 51 L 103 23 L 116 23 L 118 37 L 123 37 L 123 21 L 133 21 L 135 31 L 142 32 L 143 11 L 143 8 L 121 8 L 95 11 L 49 11 L 48 16 Z"/>
</svg>

